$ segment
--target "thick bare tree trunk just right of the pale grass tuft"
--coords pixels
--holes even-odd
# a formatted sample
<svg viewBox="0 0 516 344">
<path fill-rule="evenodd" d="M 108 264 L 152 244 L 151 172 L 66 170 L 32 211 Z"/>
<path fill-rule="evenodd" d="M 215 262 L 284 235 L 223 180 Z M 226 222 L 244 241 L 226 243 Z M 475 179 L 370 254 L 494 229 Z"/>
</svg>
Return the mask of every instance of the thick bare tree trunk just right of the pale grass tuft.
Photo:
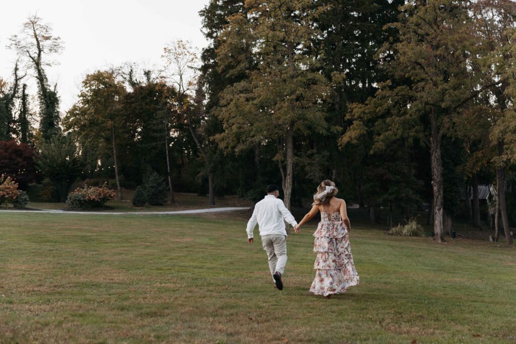
<svg viewBox="0 0 516 344">
<path fill-rule="evenodd" d="M 432 189 L 433 189 L 433 233 L 434 240 L 444 241 L 443 236 L 443 165 L 441 159 L 442 128 L 438 128 L 435 109 L 432 108 L 430 116 L 430 157 L 432 165 Z"/>
</svg>

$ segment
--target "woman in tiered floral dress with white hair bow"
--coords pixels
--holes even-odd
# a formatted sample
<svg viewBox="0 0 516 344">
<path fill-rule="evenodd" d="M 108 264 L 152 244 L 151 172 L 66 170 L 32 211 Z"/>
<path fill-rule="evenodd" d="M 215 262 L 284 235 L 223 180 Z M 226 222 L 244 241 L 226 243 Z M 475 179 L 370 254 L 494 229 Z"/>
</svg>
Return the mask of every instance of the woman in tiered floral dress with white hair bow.
<svg viewBox="0 0 516 344">
<path fill-rule="evenodd" d="M 299 228 L 321 212 L 321 222 L 314 233 L 314 252 L 317 252 L 314 269 L 315 279 L 310 291 L 329 299 L 332 294 L 345 292 L 359 283 L 353 264 L 349 231 L 351 225 L 346 212 L 346 202 L 335 198 L 337 188 L 332 181 L 324 181 L 314 194 L 312 210 L 296 226 Z"/>
</svg>

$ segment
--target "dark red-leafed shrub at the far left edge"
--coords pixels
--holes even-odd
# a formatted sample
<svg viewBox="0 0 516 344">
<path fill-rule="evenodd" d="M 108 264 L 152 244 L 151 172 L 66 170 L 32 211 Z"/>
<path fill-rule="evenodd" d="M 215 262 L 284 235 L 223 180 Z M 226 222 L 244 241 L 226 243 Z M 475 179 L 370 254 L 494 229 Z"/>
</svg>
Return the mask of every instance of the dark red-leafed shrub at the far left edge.
<svg viewBox="0 0 516 344">
<path fill-rule="evenodd" d="M 21 189 L 35 181 L 34 148 L 26 143 L 0 141 L 0 171 L 15 179 Z"/>
</svg>

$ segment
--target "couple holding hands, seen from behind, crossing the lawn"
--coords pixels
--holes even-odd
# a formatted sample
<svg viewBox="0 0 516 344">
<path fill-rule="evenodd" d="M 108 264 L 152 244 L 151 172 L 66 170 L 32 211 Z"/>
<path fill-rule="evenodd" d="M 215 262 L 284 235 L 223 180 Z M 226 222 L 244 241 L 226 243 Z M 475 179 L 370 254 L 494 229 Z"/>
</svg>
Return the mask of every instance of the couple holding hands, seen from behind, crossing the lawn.
<svg viewBox="0 0 516 344">
<path fill-rule="evenodd" d="M 265 198 L 256 203 L 253 215 L 247 223 L 248 243 L 253 243 L 256 223 L 260 227 L 263 249 L 269 258 L 269 269 L 275 287 L 283 289 L 282 275 L 287 261 L 285 223 L 291 224 L 296 233 L 312 219 L 317 212 L 321 221 L 314 233 L 315 279 L 310 291 L 329 299 L 332 294 L 345 292 L 347 288 L 359 284 L 359 276 L 353 264 L 349 231 L 351 225 L 347 217 L 346 202 L 335 198 L 337 188 L 332 181 L 324 181 L 314 194 L 312 209 L 299 222 L 280 200 L 278 187 L 269 185 Z"/>
</svg>

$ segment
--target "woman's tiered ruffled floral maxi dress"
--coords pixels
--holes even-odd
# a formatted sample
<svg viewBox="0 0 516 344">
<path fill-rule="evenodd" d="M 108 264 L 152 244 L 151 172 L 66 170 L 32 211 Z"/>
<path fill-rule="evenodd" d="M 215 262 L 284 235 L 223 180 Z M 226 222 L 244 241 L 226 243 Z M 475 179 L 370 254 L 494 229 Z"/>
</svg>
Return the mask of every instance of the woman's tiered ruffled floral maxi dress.
<svg viewBox="0 0 516 344">
<path fill-rule="evenodd" d="M 345 292 L 359 284 L 359 276 L 353 264 L 348 229 L 340 212 L 321 212 L 321 222 L 314 233 L 314 252 L 317 252 L 314 269 L 315 279 L 310 291 L 328 296 Z"/>
</svg>

